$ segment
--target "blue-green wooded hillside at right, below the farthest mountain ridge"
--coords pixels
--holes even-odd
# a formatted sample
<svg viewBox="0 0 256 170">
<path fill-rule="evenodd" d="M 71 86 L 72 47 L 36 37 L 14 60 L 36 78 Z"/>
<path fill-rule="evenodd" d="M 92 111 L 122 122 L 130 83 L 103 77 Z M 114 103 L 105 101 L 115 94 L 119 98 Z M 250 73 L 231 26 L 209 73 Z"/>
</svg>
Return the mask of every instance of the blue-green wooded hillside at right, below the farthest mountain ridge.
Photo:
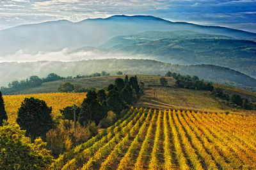
<svg viewBox="0 0 256 170">
<path fill-rule="evenodd" d="M 256 43 L 191 31 L 148 31 L 116 36 L 104 43 L 109 52 L 182 65 L 219 65 L 256 77 Z"/>
</svg>

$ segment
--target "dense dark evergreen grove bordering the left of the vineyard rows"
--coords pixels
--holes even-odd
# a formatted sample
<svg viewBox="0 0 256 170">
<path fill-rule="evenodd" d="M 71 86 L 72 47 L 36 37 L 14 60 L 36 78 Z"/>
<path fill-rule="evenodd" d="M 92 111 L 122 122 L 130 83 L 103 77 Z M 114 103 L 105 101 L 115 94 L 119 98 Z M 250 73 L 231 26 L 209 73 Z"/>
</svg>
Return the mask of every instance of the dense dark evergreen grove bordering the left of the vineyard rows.
<svg viewBox="0 0 256 170">
<path fill-rule="evenodd" d="M 115 84 L 109 84 L 98 91 L 88 91 L 77 120 L 81 125 L 88 121 L 95 121 L 99 125 L 100 120 L 104 120 L 109 111 L 120 117 L 122 110 L 137 100 L 142 91 L 136 76 L 130 77 L 129 80 L 127 75 L 125 80 L 116 78 Z"/>
</svg>

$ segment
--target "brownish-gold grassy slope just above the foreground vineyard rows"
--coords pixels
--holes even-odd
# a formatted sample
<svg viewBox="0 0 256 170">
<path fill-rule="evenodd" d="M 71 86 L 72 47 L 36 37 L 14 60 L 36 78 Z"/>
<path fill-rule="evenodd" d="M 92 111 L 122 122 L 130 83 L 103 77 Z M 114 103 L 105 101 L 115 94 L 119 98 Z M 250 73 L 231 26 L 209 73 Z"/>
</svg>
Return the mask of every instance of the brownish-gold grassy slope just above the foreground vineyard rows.
<svg viewBox="0 0 256 170">
<path fill-rule="evenodd" d="M 198 111 L 224 112 L 230 108 L 219 104 L 211 97 L 209 91 L 183 89 L 183 88 L 164 88 L 150 87 L 144 90 L 145 95 L 140 98 L 136 107 L 150 108 L 172 108 Z"/>
</svg>

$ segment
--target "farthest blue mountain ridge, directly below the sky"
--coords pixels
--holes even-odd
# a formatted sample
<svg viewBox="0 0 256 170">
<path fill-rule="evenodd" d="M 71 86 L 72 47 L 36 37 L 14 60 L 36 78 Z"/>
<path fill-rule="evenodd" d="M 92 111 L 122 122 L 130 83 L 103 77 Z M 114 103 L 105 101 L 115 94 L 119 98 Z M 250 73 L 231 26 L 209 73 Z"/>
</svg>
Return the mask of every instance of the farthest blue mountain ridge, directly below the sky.
<svg viewBox="0 0 256 170">
<path fill-rule="evenodd" d="M 56 51 L 64 48 L 74 50 L 83 46 L 97 47 L 118 35 L 174 30 L 189 30 L 239 39 L 256 38 L 255 33 L 227 27 L 170 22 L 152 16 L 115 15 L 107 19 L 86 19 L 76 23 L 58 20 L 4 29 L 0 31 L 0 57 L 4 58 L 18 50 L 35 54 L 38 51 Z"/>
</svg>

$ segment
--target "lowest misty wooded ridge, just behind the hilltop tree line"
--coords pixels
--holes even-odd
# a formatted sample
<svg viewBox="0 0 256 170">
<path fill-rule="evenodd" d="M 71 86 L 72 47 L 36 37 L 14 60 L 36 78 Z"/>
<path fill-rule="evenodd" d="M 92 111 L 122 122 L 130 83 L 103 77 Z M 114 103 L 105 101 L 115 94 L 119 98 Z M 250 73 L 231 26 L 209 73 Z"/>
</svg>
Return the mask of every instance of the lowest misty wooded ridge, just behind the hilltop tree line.
<svg viewBox="0 0 256 170">
<path fill-rule="evenodd" d="M 17 72 L 19 70 L 19 72 Z M 172 65 L 145 59 L 99 59 L 88 61 L 38 61 L 30 63 L 0 63 L 0 86 L 8 82 L 28 78 L 31 75 L 46 77 L 54 72 L 61 76 L 90 75 L 102 71 L 115 74 L 118 71 L 132 74 L 161 74 L 176 72 L 182 75 L 197 75 L 205 81 L 229 84 L 256 90 L 256 79 L 235 70 L 214 65 Z"/>
</svg>

